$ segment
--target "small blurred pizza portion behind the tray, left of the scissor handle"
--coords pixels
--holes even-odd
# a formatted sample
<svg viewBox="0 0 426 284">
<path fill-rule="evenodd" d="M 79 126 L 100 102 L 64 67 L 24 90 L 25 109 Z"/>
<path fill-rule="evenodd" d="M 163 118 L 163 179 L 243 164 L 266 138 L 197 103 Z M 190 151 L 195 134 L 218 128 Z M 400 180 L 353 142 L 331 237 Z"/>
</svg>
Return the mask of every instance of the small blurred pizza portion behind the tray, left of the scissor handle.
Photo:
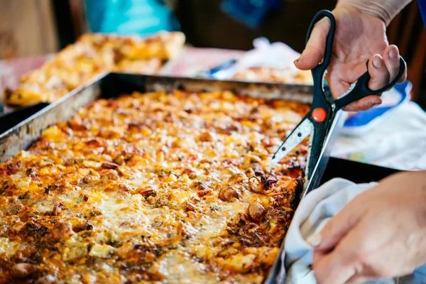
<svg viewBox="0 0 426 284">
<path fill-rule="evenodd" d="M 233 79 L 253 82 L 278 82 L 286 84 L 313 84 L 310 70 L 298 70 L 295 66 L 282 69 L 251 67 L 237 72 Z"/>
</svg>

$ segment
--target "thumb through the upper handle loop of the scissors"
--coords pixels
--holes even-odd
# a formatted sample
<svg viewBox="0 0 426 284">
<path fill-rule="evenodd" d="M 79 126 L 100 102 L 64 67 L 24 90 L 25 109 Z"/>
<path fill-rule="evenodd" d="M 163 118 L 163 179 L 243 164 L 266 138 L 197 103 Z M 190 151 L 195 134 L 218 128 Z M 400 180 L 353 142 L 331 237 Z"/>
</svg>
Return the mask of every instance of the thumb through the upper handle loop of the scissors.
<svg viewBox="0 0 426 284">
<path fill-rule="evenodd" d="M 322 18 L 312 29 L 305 50 L 303 50 L 300 58 L 295 60 L 295 65 L 300 70 L 311 70 L 322 61 L 327 40 L 327 35 L 330 29 L 330 20 Z"/>
</svg>

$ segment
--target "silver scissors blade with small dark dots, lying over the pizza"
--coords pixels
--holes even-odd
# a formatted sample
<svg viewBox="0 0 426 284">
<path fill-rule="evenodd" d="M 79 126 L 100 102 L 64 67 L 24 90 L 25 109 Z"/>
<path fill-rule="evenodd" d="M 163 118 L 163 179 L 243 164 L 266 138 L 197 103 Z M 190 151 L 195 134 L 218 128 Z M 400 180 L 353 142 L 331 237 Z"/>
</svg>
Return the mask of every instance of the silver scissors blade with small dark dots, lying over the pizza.
<svg viewBox="0 0 426 284">
<path fill-rule="evenodd" d="M 272 160 L 269 163 L 268 171 L 278 164 L 278 162 L 285 157 L 290 151 L 292 151 L 300 142 L 303 141 L 308 135 L 314 131 L 314 124 L 306 117 L 296 126 L 296 128 L 290 133 L 285 141 L 281 144 L 275 154 L 272 156 Z"/>
</svg>

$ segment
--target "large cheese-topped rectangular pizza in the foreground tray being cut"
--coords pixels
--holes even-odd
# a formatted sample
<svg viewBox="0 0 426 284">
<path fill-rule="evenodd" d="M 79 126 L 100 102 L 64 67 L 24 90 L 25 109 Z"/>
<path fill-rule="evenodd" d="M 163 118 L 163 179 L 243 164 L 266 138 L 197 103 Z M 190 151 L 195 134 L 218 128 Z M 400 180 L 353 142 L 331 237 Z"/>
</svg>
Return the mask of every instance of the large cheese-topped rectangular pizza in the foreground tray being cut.
<svg viewBox="0 0 426 284">
<path fill-rule="evenodd" d="M 0 163 L 0 283 L 263 283 L 309 106 L 231 92 L 99 99 Z"/>
</svg>

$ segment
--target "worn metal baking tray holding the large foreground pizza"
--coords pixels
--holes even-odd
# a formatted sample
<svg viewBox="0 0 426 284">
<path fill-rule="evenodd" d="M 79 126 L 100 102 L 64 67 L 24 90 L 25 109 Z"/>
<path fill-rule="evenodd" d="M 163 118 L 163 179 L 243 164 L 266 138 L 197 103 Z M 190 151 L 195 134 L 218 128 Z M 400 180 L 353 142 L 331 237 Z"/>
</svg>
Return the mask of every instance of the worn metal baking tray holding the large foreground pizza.
<svg viewBox="0 0 426 284">
<path fill-rule="evenodd" d="M 266 99 L 280 99 L 304 104 L 312 103 L 312 86 L 297 84 L 277 84 L 260 82 L 218 81 L 208 79 L 195 79 L 185 77 L 161 77 L 150 75 L 130 75 L 119 73 L 102 74 L 95 77 L 81 87 L 74 89 L 58 101 L 48 104 L 40 111 L 32 114 L 28 119 L 13 126 L 12 129 L 0 134 L 0 161 L 6 160 L 20 150 L 26 149 L 33 143 L 48 126 L 58 121 L 65 121 L 86 106 L 89 102 L 100 97 L 119 97 L 121 94 L 132 92 L 153 92 L 163 89 L 170 92 L 181 89 L 190 92 L 214 92 L 229 90 L 235 94 L 247 97 L 260 97 Z M 310 180 L 305 180 L 295 198 L 294 208 L 302 197 L 310 190 L 320 185 L 322 175 L 329 160 L 334 139 L 343 125 L 344 118 L 338 113 L 333 119 L 332 129 L 327 137 L 326 146 L 320 157 L 320 165 Z M 275 259 L 265 283 L 283 283 L 285 273 L 282 271 L 281 253 L 284 241 L 280 246 L 280 253 Z"/>
</svg>

